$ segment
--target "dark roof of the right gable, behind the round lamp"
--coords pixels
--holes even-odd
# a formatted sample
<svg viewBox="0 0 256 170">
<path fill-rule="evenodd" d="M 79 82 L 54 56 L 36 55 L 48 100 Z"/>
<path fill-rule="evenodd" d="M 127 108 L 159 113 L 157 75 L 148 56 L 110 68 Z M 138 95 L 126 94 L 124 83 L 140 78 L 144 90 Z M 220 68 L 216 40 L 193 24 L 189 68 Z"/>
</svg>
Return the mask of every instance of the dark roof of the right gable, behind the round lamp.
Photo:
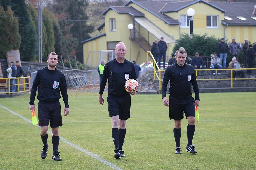
<svg viewBox="0 0 256 170">
<path fill-rule="evenodd" d="M 196 3 L 204 3 L 221 11 L 222 13 L 226 12 L 225 10 L 221 9 L 219 6 L 216 6 L 204 0 L 196 0 L 196 1 L 194 0 L 194 1 L 185 1 L 185 2 L 168 2 L 160 12 L 177 12 L 183 8 L 186 8 Z"/>
</svg>

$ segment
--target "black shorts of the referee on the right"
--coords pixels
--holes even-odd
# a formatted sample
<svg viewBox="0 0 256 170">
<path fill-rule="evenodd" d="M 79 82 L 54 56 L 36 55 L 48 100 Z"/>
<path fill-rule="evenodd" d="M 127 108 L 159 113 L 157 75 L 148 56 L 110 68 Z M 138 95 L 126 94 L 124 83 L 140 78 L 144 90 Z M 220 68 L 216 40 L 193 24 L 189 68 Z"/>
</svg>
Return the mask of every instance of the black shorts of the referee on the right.
<svg viewBox="0 0 256 170">
<path fill-rule="evenodd" d="M 174 120 L 181 120 L 189 116 L 195 117 L 195 100 L 193 97 L 188 99 L 177 99 L 172 96 L 169 98 L 169 117 Z"/>
</svg>

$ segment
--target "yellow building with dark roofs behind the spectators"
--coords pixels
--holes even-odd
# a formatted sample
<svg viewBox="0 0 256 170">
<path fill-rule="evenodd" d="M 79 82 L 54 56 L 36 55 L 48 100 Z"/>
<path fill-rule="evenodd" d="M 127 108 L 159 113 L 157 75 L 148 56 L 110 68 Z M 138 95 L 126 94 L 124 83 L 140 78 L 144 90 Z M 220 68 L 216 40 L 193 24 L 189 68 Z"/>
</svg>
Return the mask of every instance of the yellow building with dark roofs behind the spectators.
<svg viewBox="0 0 256 170">
<path fill-rule="evenodd" d="M 237 43 L 244 43 L 244 39 L 256 42 L 256 3 L 131 0 L 124 6 L 110 6 L 103 12 L 105 22 L 98 28 L 101 34 L 81 42 L 84 63 L 89 51 L 112 50 L 118 42 L 126 45 L 126 59 L 141 63 L 146 61 L 145 51 L 162 36 L 168 46 L 166 55 L 170 56 L 175 40 L 182 33 L 189 33 L 188 8 L 195 10 L 194 34 L 207 33 L 229 41 L 235 37 Z M 131 31 L 127 27 L 130 23 L 134 25 Z"/>
</svg>

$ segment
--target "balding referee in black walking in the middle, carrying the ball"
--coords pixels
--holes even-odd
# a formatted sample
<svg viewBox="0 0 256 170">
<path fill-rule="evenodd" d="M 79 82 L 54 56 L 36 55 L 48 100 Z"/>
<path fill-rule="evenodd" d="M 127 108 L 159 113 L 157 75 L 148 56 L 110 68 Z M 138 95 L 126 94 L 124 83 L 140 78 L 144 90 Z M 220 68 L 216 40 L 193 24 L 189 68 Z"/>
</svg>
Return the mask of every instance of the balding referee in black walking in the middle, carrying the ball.
<svg viewBox="0 0 256 170">
<path fill-rule="evenodd" d="M 126 120 L 130 118 L 131 95 L 124 89 L 124 84 L 129 79 L 136 79 L 134 64 L 124 59 L 126 47 L 119 42 L 115 48 L 116 58 L 106 63 L 100 83 L 99 102 L 104 104 L 102 97 L 108 79 L 108 112 L 112 120 L 112 138 L 115 145 L 116 159 L 125 157 L 122 146 L 126 134 Z M 119 131 L 118 131 L 118 128 Z"/>
</svg>

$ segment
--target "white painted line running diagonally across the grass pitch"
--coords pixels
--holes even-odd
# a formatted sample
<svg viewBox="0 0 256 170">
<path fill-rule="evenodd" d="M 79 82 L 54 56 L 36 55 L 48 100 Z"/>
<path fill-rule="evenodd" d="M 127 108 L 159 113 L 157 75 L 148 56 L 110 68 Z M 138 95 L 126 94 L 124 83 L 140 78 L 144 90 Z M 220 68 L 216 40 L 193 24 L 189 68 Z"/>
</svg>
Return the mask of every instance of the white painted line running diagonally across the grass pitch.
<svg viewBox="0 0 256 170">
<path fill-rule="evenodd" d="M 19 116 L 20 118 L 24 119 L 25 121 L 27 121 L 27 122 L 29 122 L 29 123 L 32 123 L 31 120 L 29 120 L 29 119 L 27 119 L 26 117 L 23 117 L 22 115 L 20 115 L 20 114 L 18 114 L 18 113 L 16 113 L 16 112 L 14 112 L 14 111 L 12 111 L 12 110 L 10 110 L 10 109 L 4 107 L 4 106 L 1 105 L 1 104 L 0 104 L 0 107 L 4 108 L 5 110 L 11 112 L 12 114 L 14 114 L 14 115 L 16 115 L 16 116 Z M 39 126 L 38 126 L 38 127 L 39 127 Z M 48 130 L 48 133 L 52 134 L 52 132 L 51 132 L 50 130 Z M 93 157 L 93 158 L 99 160 L 100 162 L 102 162 L 102 163 L 106 164 L 107 166 L 111 167 L 112 169 L 122 170 L 122 169 L 120 169 L 119 167 L 115 166 L 114 164 L 108 162 L 107 160 L 100 158 L 98 155 L 93 154 L 92 152 L 89 152 L 89 151 L 87 151 L 87 150 L 81 148 L 80 146 L 77 146 L 76 144 L 73 144 L 73 143 L 69 142 L 68 140 L 66 140 L 66 139 L 64 139 L 64 138 L 62 138 L 62 137 L 60 137 L 60 140 L 63 141 L 63 142 L 65 142 L 66 144 L 69 144 L 70 146 L 73 146 L 74 148 L 76 148 L 76 149 L 78 149 L 78 150 L 84 152 L 85 154 L 87 154 L 87 155 L 89 155 L 89 156 L 91 156 L 91 157 Z"/>
</svg>

